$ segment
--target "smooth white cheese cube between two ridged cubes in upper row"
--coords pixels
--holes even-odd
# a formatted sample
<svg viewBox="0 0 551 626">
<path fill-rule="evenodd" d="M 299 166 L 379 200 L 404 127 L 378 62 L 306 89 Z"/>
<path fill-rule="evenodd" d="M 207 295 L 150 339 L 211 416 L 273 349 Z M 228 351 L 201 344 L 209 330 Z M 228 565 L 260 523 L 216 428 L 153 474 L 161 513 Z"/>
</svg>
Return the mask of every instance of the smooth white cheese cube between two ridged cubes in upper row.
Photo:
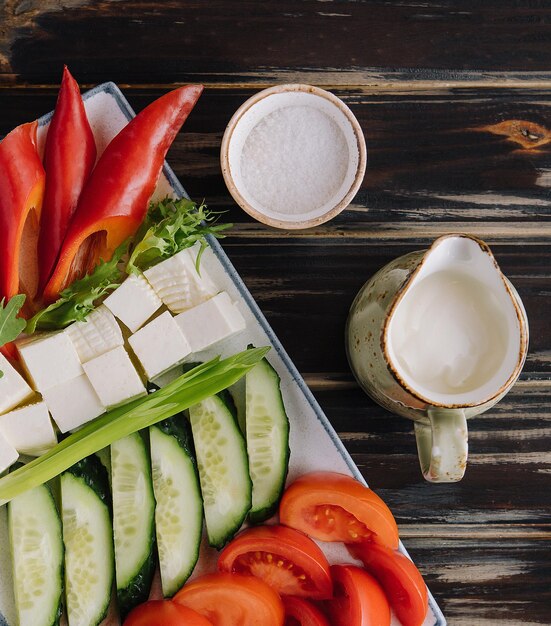
<svg viewBox="0 0 551 626">
<path fill-rule="evenodd" d="M 157 311 L 162 302 L 143 276 L 129 276 L 103 304 L 133 333 Z"/>
</svg>

